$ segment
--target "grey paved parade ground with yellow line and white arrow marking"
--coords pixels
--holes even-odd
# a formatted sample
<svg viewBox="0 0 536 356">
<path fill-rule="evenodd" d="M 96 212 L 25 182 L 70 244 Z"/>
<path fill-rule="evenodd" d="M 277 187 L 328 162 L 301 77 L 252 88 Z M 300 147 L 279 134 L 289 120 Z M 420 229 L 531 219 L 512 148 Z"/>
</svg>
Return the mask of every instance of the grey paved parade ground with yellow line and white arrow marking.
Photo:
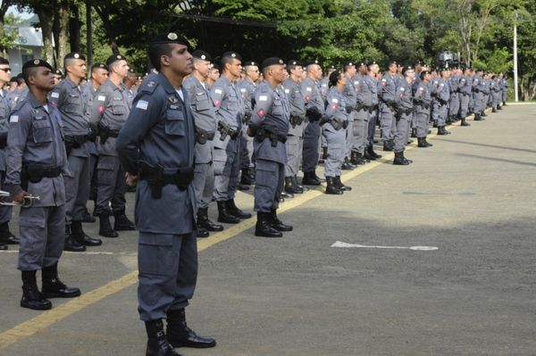
<svg viewBox="0 0 536 356">
<path fill-rule="evenodd" d="M 288 200 L 280 218 L 294 231 L 283 238 L 255 237 L 253 218 L 198 240 L 188 325 L 218 344 L 180 352 L 536 354 L 536 105 L 486 119 L 410 147 L 410 166 L 393 166 L 390 153 L 346 172 L 353 190 L 342 196 Z M 251 191 L 238 204 L 252 211 Z M 96 236 L 98 223 L 84 228 Z M 39 312 L 19 306 L 10 245 L 0 253 L 0 355 L 143 355 L 136 254 L 135 231 L 65 253 L 60 277 L 82 296 Z"/>
</svg>

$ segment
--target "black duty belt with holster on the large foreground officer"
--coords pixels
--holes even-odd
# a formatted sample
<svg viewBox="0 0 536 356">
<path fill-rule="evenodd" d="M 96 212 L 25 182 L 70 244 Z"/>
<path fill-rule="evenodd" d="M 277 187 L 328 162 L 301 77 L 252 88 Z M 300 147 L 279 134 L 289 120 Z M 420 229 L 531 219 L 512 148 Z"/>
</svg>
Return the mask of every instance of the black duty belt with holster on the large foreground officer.
<svg viewBox="0 0 536 356">
<path fill-rule="evenodd" d="M 180 190 L 186 190 L 194 180 L 194 169 L 192 167 L 180 167 L 175 173 L 164 173 L 161 164 L 151 164 L 148 161 L 138 161 L 139 178 L 147 180 L 151 188 L 151 195 L 154 199 L 162 197 L 162 188 L 169 184 L 174 184 Z"/>
</svg>

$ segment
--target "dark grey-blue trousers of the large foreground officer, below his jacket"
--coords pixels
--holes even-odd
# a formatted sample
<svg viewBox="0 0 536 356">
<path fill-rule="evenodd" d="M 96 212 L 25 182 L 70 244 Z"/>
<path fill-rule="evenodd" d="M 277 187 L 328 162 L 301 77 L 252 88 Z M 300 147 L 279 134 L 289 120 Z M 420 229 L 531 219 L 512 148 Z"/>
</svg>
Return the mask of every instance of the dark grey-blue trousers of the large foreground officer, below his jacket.
<svg viewBox="0 0 536 356">
<path fill-rule="evenodd" d="M 139 319 L 165 319 L 168 311 L 185 308 L 196 283 L 195 231 L 181 235 L 139 233 Z"/>
</svg>

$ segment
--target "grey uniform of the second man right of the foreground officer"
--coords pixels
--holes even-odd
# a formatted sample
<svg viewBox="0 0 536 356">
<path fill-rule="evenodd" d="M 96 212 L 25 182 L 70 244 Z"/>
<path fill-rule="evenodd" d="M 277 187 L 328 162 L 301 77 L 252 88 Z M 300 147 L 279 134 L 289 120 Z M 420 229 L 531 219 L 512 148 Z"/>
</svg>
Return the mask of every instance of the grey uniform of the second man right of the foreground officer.
<svg viewBox="0 0 536 356">
<path fill-rule="evenodd" d="M 210 88 L 218 129 L 214 137 L 214 198 L 218 202 L 234 199 L 237 192 L 240 170 L 240 139 L 244 103 L 237 87 L 220 77 Z M 232 130 L 225 133 L 226 128 Z"/>
</svg>

